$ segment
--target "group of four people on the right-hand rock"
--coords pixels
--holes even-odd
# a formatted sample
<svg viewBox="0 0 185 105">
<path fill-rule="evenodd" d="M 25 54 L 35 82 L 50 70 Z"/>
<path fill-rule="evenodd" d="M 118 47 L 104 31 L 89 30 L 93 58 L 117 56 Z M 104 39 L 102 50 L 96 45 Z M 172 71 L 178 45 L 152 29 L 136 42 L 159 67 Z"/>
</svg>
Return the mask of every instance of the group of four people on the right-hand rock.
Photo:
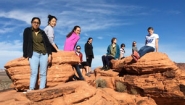
<svg viewBox="0 0 185 105">
<path fill-rule="evenodd" d="M 138 59 L 140 59 L 142 56 L 144 56 L 146 53 L 149 52 L 158 52 L 158 39 L 159 35 L 154 33 L 154 29 L 152 27 L 149 27 L 147 29 L 148 35 L 145 39 L 145 46 L 141 47 L 141 49 L 138 51 L 136 46 L 136 41 L 133 41 L 132 43 L 132 58 L 135 62 L 137 62 Z M 109 70 L 111 68 L 111 60 L 115 59 L 124 59 L 124 53 L 125 53 L 125 44 L 121 44 L 121 48 L 119 48 L 119 45 L 116 43 L 117 39 L 112 38 L 111 44 L 107 48 L 106 55 L 102 56 L 102 62 L 103 67 L 102 70 Z"/>
</svg>

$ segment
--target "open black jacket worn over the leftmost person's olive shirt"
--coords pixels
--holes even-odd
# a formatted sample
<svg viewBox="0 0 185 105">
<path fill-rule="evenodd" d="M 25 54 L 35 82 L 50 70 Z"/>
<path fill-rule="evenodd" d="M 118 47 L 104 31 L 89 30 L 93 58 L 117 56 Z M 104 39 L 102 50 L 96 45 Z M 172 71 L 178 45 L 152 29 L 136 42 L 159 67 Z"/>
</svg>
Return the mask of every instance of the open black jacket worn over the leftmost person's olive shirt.
<svg viewBox="0 0 185 105">
<path fill-rule="evenodd" d="M 51 45 L 50 42 L 48 40 L 47 35 L 45 34 L 45 32 L 41 29 L 39 29 L 41 34 L 42 34 L 42 38 L 43 38 L 43 42 L 44 42 L 44 47 L 46 49 L 46 52 L 49 54 L 51 54 Z M 32 36 L 32 28 L 31 27 L 27 27 L 24 29 L 24 33 L 23 33 L 23 57 L 27 58 L 31 58 L 33 55 L 33 36 Z"/>
</svg>

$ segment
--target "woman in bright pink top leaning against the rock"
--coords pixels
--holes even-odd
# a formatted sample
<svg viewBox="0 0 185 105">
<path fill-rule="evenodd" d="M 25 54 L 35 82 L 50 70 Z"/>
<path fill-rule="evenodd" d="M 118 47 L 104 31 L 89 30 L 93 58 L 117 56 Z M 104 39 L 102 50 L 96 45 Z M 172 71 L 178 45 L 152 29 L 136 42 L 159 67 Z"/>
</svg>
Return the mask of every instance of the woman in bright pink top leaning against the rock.
<svg viewBox="0 0 185 105">
<path fill-rule="evenodd" d="M 80 32 L 81 32 L 80 26 L 74 26 L 73 30 L 69 34 L 67 34 L 66 36 L 67 38 L 64 44 L 64 51 L 74 51 L 75 50 L 75 46 L 78 40 L 80 39 Z M 76 69 L 79 79 L 84 80 L 84 77 L 82 76 L 79 65 L 75 64 L 73 65 L 73 67 Z"/>
</svg>

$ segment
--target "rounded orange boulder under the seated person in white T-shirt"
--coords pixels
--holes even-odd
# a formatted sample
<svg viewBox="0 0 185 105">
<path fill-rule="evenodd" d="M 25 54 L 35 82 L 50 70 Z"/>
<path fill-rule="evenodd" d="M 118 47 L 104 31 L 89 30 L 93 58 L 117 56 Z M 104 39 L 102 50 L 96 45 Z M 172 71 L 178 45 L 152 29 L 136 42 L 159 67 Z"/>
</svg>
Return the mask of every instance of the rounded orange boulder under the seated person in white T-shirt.
<svg viewBox="0 0 185 105">
<path fill-rule="evenodd" d="M 137 62 L 134 62 L 131 56 L 122 60 L 112 60 L 112 65 L 116 71 L 123 70 L 129 74 L 150 74 L 178 69 L 166 54 L 159 52 L 147 53 Z"/>
</svg>

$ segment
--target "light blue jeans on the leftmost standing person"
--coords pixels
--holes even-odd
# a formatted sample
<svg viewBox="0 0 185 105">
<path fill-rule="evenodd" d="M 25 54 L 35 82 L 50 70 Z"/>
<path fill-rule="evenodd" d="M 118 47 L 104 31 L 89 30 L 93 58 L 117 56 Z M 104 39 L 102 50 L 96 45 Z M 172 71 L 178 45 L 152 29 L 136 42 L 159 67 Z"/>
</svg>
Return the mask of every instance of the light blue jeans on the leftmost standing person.
<svg viewBox="0 0 185 105">
<path fill-rule="evenodd" d="M 29 58 L 31 75 L 30 75 L 30 89 L 35 89 L 35 84 L 38 75 L 38 67 L 40 66 L 40 86 L 39 89 L 44 89 L 46 85 L 46 71 L 48 64 L 48 54 L 33 52 L 31 58 Z"/>
</svg>

